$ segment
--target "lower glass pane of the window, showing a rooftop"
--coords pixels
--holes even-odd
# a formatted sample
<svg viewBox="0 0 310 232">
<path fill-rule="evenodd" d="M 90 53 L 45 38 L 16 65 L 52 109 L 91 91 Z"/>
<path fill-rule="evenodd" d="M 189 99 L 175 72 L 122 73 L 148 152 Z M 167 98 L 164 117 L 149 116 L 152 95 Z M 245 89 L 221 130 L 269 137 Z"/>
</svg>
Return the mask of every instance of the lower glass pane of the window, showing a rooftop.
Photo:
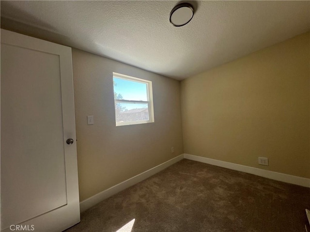
<svg viewBox="0 0 310 232">
<path fill-rule="evenodd" d="M 149 120 L 148 104 L 115 103 L 116 122 L 136 122 Z"/>
</svg>

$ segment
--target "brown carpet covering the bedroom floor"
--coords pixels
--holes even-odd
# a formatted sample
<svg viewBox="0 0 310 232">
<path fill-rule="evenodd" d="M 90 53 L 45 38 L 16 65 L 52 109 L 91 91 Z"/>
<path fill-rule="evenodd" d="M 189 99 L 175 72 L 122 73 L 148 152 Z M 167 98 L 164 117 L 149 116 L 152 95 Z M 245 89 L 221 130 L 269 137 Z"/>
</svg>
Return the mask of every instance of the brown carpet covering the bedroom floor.
<svg viewBox="0 0 310 232">
<path fill-rule="evenodd" d="M 131 232 L 305 232 L 305 208 L 310 188 L 181 160 L 88 209 L 66 232 L 116 232 L 133 219 Z"/>
</svg>

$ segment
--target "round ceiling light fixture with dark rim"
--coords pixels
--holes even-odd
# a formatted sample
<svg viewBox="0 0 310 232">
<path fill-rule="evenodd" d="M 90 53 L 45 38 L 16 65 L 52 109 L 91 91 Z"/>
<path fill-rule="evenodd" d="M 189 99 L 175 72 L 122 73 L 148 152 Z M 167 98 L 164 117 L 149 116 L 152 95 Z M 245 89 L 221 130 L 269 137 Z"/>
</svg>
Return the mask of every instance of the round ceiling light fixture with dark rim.
<svg viewBox="0 0 310 232">
<path fill-rule="evenodd" d="M 170 22 L 175 27 L 182 27 L 193 18 L 194 8 L 189 3 L 175 6 L 170 13 Z"/>
</svg>

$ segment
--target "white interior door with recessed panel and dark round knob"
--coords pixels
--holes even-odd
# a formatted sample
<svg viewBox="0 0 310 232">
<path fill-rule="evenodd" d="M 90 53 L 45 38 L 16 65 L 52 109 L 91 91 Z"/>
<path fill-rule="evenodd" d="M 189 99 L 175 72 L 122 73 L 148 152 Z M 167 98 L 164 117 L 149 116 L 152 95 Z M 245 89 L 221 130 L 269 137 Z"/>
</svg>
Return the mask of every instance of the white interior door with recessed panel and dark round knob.
<svg viewBox="0 0 310 232">
<path fill-rule="evenodd" d="M 1 231 L 63 231 L 80 220 L 71 48 L 1 29 L 0 84 Z"/>
</svg>

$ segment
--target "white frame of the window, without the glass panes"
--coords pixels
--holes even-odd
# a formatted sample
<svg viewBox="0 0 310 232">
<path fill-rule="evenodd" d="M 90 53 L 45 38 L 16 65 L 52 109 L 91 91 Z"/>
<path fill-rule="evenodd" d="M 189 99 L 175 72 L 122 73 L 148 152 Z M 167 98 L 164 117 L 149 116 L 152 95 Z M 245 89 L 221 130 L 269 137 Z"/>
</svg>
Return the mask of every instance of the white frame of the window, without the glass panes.
<svg viewBox="0 0 310 232">
<path fill-rule="evenodd" d="M 154 106 L 153 106 L 153 87 L 152 81 L 140 79 L 133 76 L 127 76 L 120 73 L 113 72 L 113 78 L 123 79 L 126 81 L 133 81 L 142 84 L 146 84 L 146 94 L 147 94 L 147 101 L 134 101 L 134 100 L 123 100 L 123 99 L 115 99 L 114 98 L 114 112 L 115 112 L 115 104 L 116 103 L 136 103 L 136 104 L 147 104 L 148 105 L 148 113 L 149 113 L 149 120 L 143 121 L 132 121 L 132 122 L 117 122 L 116 121 L 116 112 L 115 112 L 115 123 L 116 126 L 125 126 L 125 125 L 135 125 L 135 124 L 142 124 L 142 123 L 151 123 L 154 122 Z M 113 86 L 114 92 L 114 86 Z"/>
</svg>

